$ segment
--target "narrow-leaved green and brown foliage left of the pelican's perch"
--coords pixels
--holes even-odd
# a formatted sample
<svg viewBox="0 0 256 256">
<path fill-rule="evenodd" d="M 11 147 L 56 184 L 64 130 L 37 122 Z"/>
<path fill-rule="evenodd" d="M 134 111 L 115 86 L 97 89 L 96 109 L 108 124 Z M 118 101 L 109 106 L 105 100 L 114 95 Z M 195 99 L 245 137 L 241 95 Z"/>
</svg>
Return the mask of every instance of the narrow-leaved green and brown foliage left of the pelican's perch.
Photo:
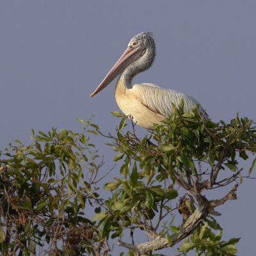
<svg viewBox="0 0 256 256">
<path fill-rule="evenodd" d="M 2 255 L 37 255 L 40 247 L 49 255 L 100 250 L 102 235 L 95 222 L 86 218 L 86 205 L 102 205 L 97 188 L 92 189 L 100 167 L 95 163 L 97 150 L 86 136 L 87 132 L 96 134 L 97 126 L 79 121 L 84 124 L 81 133 L 52 129 L 35 135 L 32 130 L 31 145 L 15 140 L 4 147 L 0 162 Z"/>
</svg>

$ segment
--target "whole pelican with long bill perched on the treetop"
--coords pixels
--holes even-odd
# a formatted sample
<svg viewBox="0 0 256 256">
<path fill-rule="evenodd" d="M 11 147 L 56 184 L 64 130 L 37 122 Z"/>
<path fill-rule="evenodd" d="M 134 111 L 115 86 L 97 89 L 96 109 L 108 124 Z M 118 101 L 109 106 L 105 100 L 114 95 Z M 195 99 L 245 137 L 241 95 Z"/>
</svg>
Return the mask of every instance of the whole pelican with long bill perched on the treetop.
<svg viewBox="0 0 256 256">
<path fill-rule="evenodd" d="M 132 86 L 133 77 L 150 68 L 155 56 L 156 45 L 152 33 L 143 32 L 132 37 L 125 52 L 90 97 L 103 90 L 120 74 L 115 88 L 116 103 L 125 115 L 131 115 L 141 127 L 153 129 L 154 124 L 161 124 L 172 114 L 171 102 L 179 108 L 182 99 L 184 111 L 191 111 L 198 101 L 185 93 L 164 89 L 152 83 Z M 201 106 L 199 110 L 204 112 Z"/>
</svg>

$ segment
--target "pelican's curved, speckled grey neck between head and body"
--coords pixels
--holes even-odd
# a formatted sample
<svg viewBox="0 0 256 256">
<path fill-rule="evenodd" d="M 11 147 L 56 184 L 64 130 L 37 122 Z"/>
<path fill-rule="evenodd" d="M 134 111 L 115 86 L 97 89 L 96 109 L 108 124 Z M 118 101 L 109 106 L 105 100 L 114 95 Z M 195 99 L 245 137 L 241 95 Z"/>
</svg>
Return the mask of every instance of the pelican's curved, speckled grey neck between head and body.
<svg viewBox="0 0 256 256">
<path fill-rule="evenodd" d="M 127 90 L 132 88 L 132 79 L 134 76 L 143 72 L 151 67 L 156 56 L 156 46 L 152 44 L 151 47 L 147 49 L 145 54 L 134 63 L 131 63 L 118 77 L 116 83 L 116 89 L 118 90 Z"/>
</svg>

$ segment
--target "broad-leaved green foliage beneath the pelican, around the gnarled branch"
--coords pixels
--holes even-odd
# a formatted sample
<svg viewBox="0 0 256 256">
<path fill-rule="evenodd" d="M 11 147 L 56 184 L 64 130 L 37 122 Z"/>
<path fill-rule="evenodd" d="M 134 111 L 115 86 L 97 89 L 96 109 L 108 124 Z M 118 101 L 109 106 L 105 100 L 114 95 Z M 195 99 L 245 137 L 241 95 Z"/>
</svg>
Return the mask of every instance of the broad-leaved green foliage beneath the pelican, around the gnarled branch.
<svg viewBox="0 0 256 256">
<path fill-rule="evenodd" d="M 100 220 L 104 236 L 122 237 L 125 228 L 132 230 L 131 234 L 140 228 L 152 239 L 156 239 L 159 236 L 157 234 L 166 237 L 172 246 L 172 237 L 182 229 L 172 223 L 166 227 L 164 222 L 163 228 L 159 230 L 159 223 L 166 216 L 179 208 L 184 220 L 188 220 L 195 211 L 195 204 L 209 204 L 212 206 L 210 212 L 218 214 L 213 211 L 214 207 L 228 199 L 223 199 L 223 202 L 209 201 L 202 191 L 227 186 L 236 179 L 242 182 L 238 158 L 248 159 L 248 153 L 256 151 L 256 127 L 252 120 L 237 116 L 230 124 L 223 121 L 214 123 L 204 119 L 203 114 L 198 112 L 198 106 L 189 113 L 184 113 L 182 109 L 182 102 L 179 109 L 173 106 L 175 114 L 162 125 L 155 125 L 154 131 L 150 131 L 150 138 L 145 136 L 142 140 L 135 132 L 124 131 L 127 116 L 114 113 L 122 120 L 116 129 L 116 136 L 110 136 L 113 143 L 109 145 L 118 152 L 113 160 L 122 161 L 122 166 L 121 177 L 116 177 L 115 181 L 104 186 L 112 193 L 105 202 L 108 211 L 98 213 L 94 219 Z M 255 160 L 249 174 L 254 164 Z M 218 181 L 220 170 L 223 175 L 227 175 L 227 179 Z M 179 207 L 171 207 L 177 205 L 175 198 L 180 187 L 190 191 L 193 196 L 184 200 L 184 205 L 180 203 Z M 185 192 L 181 193 L 184 195 Z M 229 199 L 236 199 L 236 196 Z M 170 200 L 174 200 L 174 203 L 170 203 Z M 207 211 L 205 214 L 209 213 Z M 157 224 L 154 225 L 153 220 Z M 181 255 L 194 248 L 199 253 L 196 255 L 236 253 L 234 244 L 239 239 L 221 241 L 221 233 L 215 236 L 209 225 L 214 229 L 220 228 L 214 221 L 195 226 L 191 242 L 187 239 L 180 246 Z"/>
</svg>

